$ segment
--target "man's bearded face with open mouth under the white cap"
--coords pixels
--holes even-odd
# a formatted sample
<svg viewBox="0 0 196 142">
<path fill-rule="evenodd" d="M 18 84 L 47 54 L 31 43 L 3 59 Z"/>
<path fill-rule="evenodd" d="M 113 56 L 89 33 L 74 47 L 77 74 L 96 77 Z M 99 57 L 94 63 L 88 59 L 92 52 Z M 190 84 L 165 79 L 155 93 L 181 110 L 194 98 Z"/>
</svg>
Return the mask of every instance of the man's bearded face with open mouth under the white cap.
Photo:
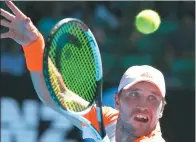
<svg viewBox="0 0 196 142">
<path fill-rule="evenodd" d="M 159 89 L 152 83 L 139 82 L 115 96 L 116 108 L 124 128 L 136 137 L 151 132 L 162 116 Z"/>
</svg>

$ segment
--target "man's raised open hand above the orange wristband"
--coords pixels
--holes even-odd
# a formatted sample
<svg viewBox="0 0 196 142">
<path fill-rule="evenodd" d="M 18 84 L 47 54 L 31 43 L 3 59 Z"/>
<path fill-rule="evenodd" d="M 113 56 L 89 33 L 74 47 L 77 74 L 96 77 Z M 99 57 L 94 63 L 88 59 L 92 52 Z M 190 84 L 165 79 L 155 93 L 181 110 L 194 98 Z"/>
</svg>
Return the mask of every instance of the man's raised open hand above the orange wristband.
<svg viewBox="0 0 196 142">
<path fill-rule="evenodd" d="M 8 32 L 0 34 L 0 38 L 12 38 L 22 46 L 35 41 L 38 37 L 38 30 L 30 18 L 24 15 L 11 1 L 5 1 L 5 3 L 14 15 L 0 9 L 1 15 L 6 18 L 1 19 L 0 23 L 2 26 L 9 28 Z"/>
</svg>

